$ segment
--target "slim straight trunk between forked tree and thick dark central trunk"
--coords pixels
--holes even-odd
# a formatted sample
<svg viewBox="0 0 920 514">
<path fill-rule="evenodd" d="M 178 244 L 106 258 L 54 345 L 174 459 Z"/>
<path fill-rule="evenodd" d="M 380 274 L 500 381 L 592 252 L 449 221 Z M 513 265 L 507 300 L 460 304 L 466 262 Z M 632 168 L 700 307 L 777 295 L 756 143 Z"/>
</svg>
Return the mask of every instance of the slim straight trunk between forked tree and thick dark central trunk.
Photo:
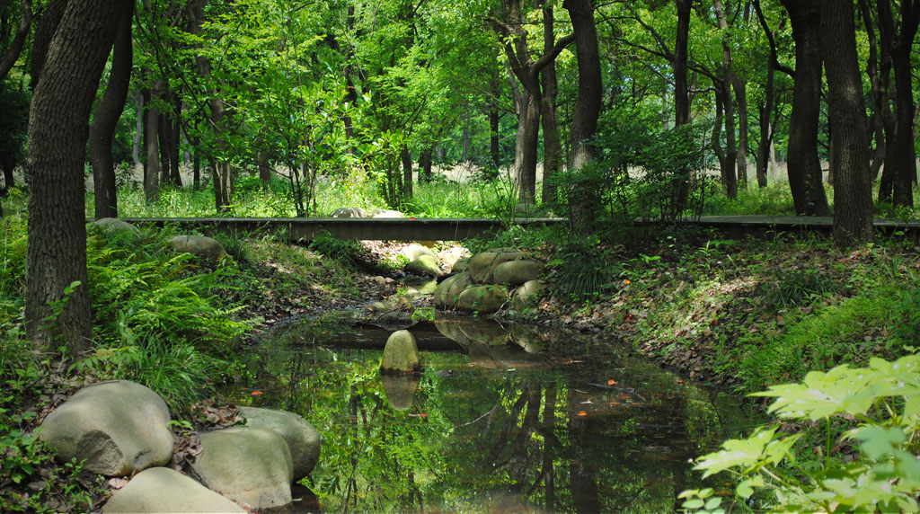
<svg viewBox="0 0 920 514">
<path fill-rule="evenodd" d="M 556 44 L 555 23 L 552 5 L 543 7 L 543 51 L 553 51 Z M 557 200 L 556 175 L 562 159 L 562 143 L 559 141 L 559 120 L 556 113 L 558 81 L 556 62 L 546 64 L 540 72 L 540 86 L 543 89 L 541 123 L 543 125 L 543 191 L 542 201 Z"/>
</svg>

